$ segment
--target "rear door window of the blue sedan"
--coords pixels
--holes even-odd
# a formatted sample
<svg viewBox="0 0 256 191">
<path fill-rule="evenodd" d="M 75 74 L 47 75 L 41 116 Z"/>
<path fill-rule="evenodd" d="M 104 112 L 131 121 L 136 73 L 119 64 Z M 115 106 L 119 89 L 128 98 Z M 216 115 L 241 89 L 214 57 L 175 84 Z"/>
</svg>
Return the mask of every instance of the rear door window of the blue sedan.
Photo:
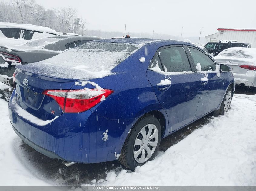
<svg viewBox="0 0 256 191">
<path fill-rule="evenodd" d="M 187 54 L 183 47 L 170 47 L 158 53 L 165 72 L 191 71 Z"/>
</svg>

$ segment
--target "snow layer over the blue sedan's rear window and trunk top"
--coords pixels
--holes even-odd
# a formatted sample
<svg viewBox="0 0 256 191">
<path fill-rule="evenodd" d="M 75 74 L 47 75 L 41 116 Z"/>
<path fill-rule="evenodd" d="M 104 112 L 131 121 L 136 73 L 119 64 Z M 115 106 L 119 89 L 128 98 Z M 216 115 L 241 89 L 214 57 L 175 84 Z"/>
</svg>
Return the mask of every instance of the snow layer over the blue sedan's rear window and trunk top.
<svg viewBox="0 0 256 191">
<path fill-rule="evenodd" d="M 111 70 L 141 45 L 88 42 L 29 68 L 40 74 L 70 79 L 92 79 L 111 75 Z M 36 68 L 33 68 L 36 67 Z"/>
</svg>

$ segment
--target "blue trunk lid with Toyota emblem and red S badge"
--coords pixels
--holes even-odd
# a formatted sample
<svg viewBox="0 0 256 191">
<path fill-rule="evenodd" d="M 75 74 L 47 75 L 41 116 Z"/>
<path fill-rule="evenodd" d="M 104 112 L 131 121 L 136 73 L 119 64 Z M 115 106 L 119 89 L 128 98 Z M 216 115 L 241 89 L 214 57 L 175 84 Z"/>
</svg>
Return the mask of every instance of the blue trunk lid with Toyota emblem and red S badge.
<svg viewBox="0 0 256 191">
<path fill-rule="evenodd" d="M 63 111 L 44 90 L 69 90 L 77 79 L 53 78 L 27 72 L 21 68 L 15 72 L 15 100 L 19 107 L 42 120 L 52 120 Z"/>
</svg>

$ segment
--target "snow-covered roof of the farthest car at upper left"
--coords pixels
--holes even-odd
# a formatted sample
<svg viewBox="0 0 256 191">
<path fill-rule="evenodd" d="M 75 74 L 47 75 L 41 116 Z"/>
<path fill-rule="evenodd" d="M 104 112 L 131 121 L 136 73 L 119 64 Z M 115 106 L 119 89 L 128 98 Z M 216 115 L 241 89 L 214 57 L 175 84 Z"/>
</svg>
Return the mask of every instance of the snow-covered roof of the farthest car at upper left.
<svg viewBox="0 0 256 191">
<path fill-rule="evenodd" d="M 24 30 L 31 30 L 34 32 L 46 32 L 50 34 L 59 35 L 59 33 L 53 29 L 50 29 L 48 27 L 41 27 L 33 24 L 17 24 L 17 23 L 1 23 L 0 22 L 0 28 L 20 28 Z"/>
</svg>

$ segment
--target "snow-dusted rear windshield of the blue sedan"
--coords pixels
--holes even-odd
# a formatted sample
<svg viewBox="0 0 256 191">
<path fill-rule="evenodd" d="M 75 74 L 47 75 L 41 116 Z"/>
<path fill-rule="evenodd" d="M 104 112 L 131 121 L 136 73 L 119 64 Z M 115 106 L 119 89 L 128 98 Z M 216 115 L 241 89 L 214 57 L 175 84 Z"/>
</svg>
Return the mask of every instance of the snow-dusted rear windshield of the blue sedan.
<svg viewBox="0 0 256 191">
<path fill-rule="evenodd" d="M 42 62 L 105 76 L 140 47 L 135 44 L 92 41 Z"/>
</svg>

